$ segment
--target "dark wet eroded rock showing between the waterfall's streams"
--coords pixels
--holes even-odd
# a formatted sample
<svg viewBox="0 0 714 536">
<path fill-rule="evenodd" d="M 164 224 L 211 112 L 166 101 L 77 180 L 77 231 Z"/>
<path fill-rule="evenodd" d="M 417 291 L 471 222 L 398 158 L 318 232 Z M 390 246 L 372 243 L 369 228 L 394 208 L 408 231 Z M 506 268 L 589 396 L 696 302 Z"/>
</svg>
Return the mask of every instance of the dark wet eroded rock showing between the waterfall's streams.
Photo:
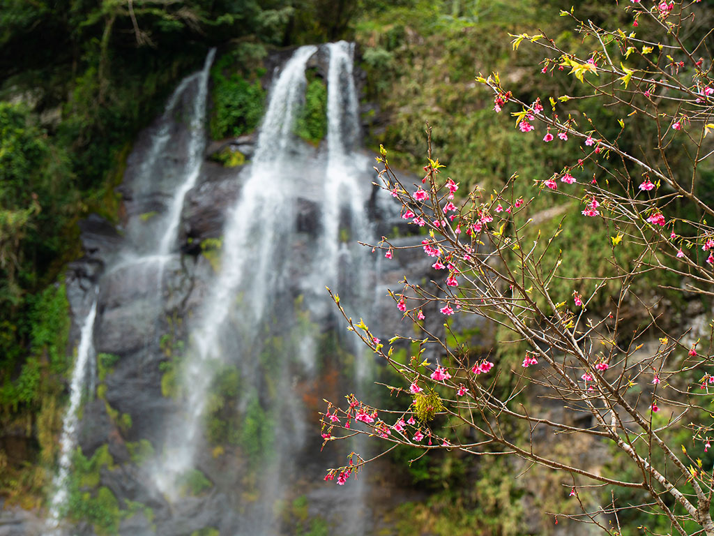
<svg viewBox="0 0 714 536">
<path fill-rule="evenodd" d="M 268 59 L 269 72 L 272 72 L 271 65 L 281 64 L 283 56 L 288 53 L 281 54 Z M 321 49 L 313 56 L 309 66 L 326 77 L 326 52 Z M 121 535 L 189 536 L 206 527 L 214 527 L 221 534 L 235 534 L 245 528 L 241 527 L 241 523 L 244 522 L 246 504 L 257 500 L 251 498 L 257 497 L 255 482 L 251 481 L 255 480 L 256 468 L 251 467 L 255 462 L 246 455 L 255 440 L 241 439 L 243 436 L 238 440 L 234 437 L 230 442 L 224 441 L 220 449 L 205 440 L 199 444 L 195 466 L 205 479 L 201 481 L 201 486 L 205 486 L 201 490 L 181 490 L 176 493 L 177 497 L 169 500 L 157 490 L 156 482 L 150 476 L 151 464 L 162 455 L 159 451 L 164 448 L 169 423 L 180 420 L 184 411 L 181 400 L 186 397 L 186 392 L 182 393 L 176 387 L 177 374 L 180 374 L 178 367 L 191 344 L 191 322 L 205 307 L 206 297 L 216 282 L 217 270 L 221 269 L 221 241 L 226 220 L 236 205 L 236 199 L 241 196 L 245 173 L 251 166 L 248 161 L 244 167 L 223 167 L 211 161 L 210 156 L 226 147 L 234 147 L 250 157 L 256 143 L 254 136 L 248 136 L 206 144 L 206 157 L 196 184 L 183 199 L 176 246 L 172 252 L 158 256 L 141 247 L 133 247 L 132 241 L 152 238 L 151 235 L 156 232 L 156 222 L 160 222 L 169 210 L 177 174 L 186 166 L 186 154 L 180 148 L 188 139 L 188 125 L 181 118 L 191 106 L 191 96 L 191 91 L 187 91 L 172 114 L 157 119 L 140 134 L 129 157 L 121 187 L 124 198 L 121 226 L 115 229 L 98 217 L 88 218 L 81 227 L 86 255 L 71 264 L 67 277 L 74 324 L 81 323 L 97 296 L 94 348 L 96 354 L 106 354 L 101 359 L 110 363 L 100 371 L 94 397 L 90 397 L 84 405 L 79 446 L 84 456 L 89 458 L 99 447 L 108 445 L 114 468 L 101 467 L 100 485 L 111 490 L 122 508 L 129 504 L 126 501 L 142 505 L 135 515 L 121 520 Z M 161 131 L 171 139 L 171 143 L 167 143 L 156 157 L 155 168 L 162 170 L 162 178 L 156 182 L 142 182 L 139 179 L 147 173 L 143 162 L 152 150 L 156 133 Z M 316 424 L 317 412 L 323 410 L 323 396 L 337 400 L 353 389 L 353 369 L 346 368 L 341 359 L 346 359 L 351 363 L 349 366 L 354 367 L 356 358 L 350 354 L 358 353 L 354 345 L 347 342 L 343 319 L 338 317 L 336 308 L 326 299 L 324 284 L 319 283 L 319 277 L 311 277 L 312 272 L 322 269 L 319 259 L 316 260 L 316 252 L 323 247 L 320 237 L 325 199 L 320 183 L 317 182 L 316 186 L 315 174 L 324 173 L 326 150 L 325 144 L 313 147 L 297 143 L 291 153 L 293 162 L 311 164 L 303 167 L 294 164 L 286 171 L 294 188 L 291 192 L 292 208 L 286 213 L 274 214 L 286 219 L 286 228 L 290 229 L 289 237 L 276 238 L 282 241 L 279 254 L 289 255 L 290 262 L 271 259 L 269 264 L 283 267 L 276 278 L 279 287 L 276 288 L 276 297 L 271 296 L 270 303 L 266 305 L 271 322 L 267 327 L 256 328 L 264 331 L 258 337 L 242 334 L 240 332 L 246 322 L 241 318 L 242 313 L 236 312 L 228 319 L 226 329 L 218 334 L 218 337 L 226 337 L 226 334 L 236 336 L 241 342 L 253 341 L 250 342 L 253 345 L 251 352 L 258 356 L 257 359 L 274 363 L 277 368 L 299 370 L 300 367 L 295 364 L 306 359 L 303 354 L 276 354 L 281 349 L 283 352 L 284 348 L 294 349 L 295 354 L 315 352 L 316 364 L 310 366 L 317 369 L 291 372 L 286 379 L 279 381 L 270 377 L 257 377 L 251 382 L 243 379 L 238 384 L 239 394 L 234 400 L 230 397 L 216 398 L 210 403 L 228 405 L 226 414 L 219 414 L 223 415 L 223 425 L 232 426 L 231 433 L 234 435 L 246 435 L 241 427 L 246 422 L 246 415 L 249 415 L 249 408 L 246 407 L 248 402 L 241 402 L 241 392 L 254 390 L 258 400 L 274 396 L 281 389 L 284 392 L 294 389 L 301 393 L 302 399 L 288 403 L 285 410 L 294 412 L 294 426 L 286 429 L 283 436 L 272 440 L 273 446 L 289 447 L 294 444 L 295 460 L 292 460 L 288 471 L 275 475 L 273 480 L 278 483 L 288 480 L 298 482 L 283 501 L 289 505 L 293 498 L 304 494 L 310 502 L 310 515 L 329 519 L 337 532 L 346 533 L 353 527 L 353 520 L 336 515 L 336 509 L 347 510 L 355 500 L 361 500 L 358 497 L 361 492 L 353 490 L 343 494 L 341 499 L 332 500 L 331 508 L 323 507 L 325 497 L 333 495 L 333 490 L 322 487 L 324 470 L 343 462 L 344 452 L 329 446 L 321 455 L 321 437 Z M 374 156 L 364 154 L 359 158 L 374 162 Z M 374 179 L 374 173 L 366 167 L 360 179 L 363 187 L 354 194 L 360 197 L 359 202 L 368 214 L 371 234 L 376 237 L 390 235 L 396 228 L 404 235 L 395 242 L 396 245 L 418 245 L 421 237 L 408 236 L 413 232 L 413 226 L 407 226 L 400 218 L 401 207 L 395 205 L 391 197 L 383 197 L 373 189 L 371 182 Z M 264 210 L 271 213 L 273 207 L 266 206 Z M 338 264 L 340 271 L 347 274 L 351 272 L 348 268 L 357 261 L 348 251 L 345 240 L 353 242 L 366 237 L 352 236 L 353 222 L 347 212 L 343 212 L 338 226 L 341 231 Z M 260 244 L 252 244 L 251 247 L 259 249 Z M 397 314 L 396 303 L 389 297 L 388 289 L 398 290 L 396 282 L 405 275 L 413 282 L 428 282 L 443 277 L 442 273 L 431 268 L 432 262 L 433 259 L 425 257 L 420 247 L 399 251 L 392 260 L 384 259 L 383 252 L 375 252 L 363 264 L 363 272 L 350 277 L 343 275 L 338 285 L 346 289 L 343 294 L 347 302 L 351 298 L 351 289 L 360 287 L 363 282 L 374 282 L 373 294 L 368 302 L 360 306 L 364 307 L 366 317 L 369 313 L 373 329 L 381 337 L 399 332 L 411 333 L 411 322 Z M 99 293 L 95 294 L 97 287 Z M 229 299 L 241 302 L 242 292 Z M 246 312 L 248 309 L 236 311 Z M 436 304 L 425 308 L 424 312 L 428 328 L 433 333 L 441 333 L 443 317 L 438 313 Z M 481 327 L 478 317 L 468 322 Z M 463 324 L 464 329 L 474 326 Z M 301 340 L 301 329 L 310 332 L 312 339 Z M 75 340 L 78 332 L 79 328 L 74 327 Z M 343 348 L 340 349 L 340 345 Z M 238 362 L 238 357 L 230 355 L 226 360 L 231 364 Z M 377 358 L 371 352 L 361 354 L 361 359 L 370 362 L 370 367 L 377 364 L 373 362 Z M 238 367 L 241 377 L 249 377 L 244 373 L 251 366 L 248 363 Z M 190 385 L 186 386 L 186 389 L 190 388 Z M 206 423 L 206 427 L 210 425 Z M 141 442 L 144 445 L 148 442 L 154 450 L 154 455 L 145 460 L 136 456 Z M 375 485 L 375 489 L 378 487 Z M 267 492 L 262 490 L 261 493 Z M 382 510 L 379 511 L 383 511 L 386 504 L 384 497 L 379 498 L 376 492 L 373 495 L 370 500 L 375 512 L 380 507 Z M 273 507 L 278 506 L 278 502 L 276 505 L 263 505 L 266 509 L 264 515 L 273 516 Z M 286 512 L 284 516 L 288 519 L 289 512 Z M 376 530 L 378 520 L 365 522 L 367 533 Z M 285 525 L 276 528 L 276 531 L 292 533 L 295 530 L 289 522 Z M 80 524 L 73 529 L 81 536 L 94 533 L 89 524 Z M 0 524 L 0 536 L 5 536 L 2 530 L 3 525 Z M 15 533 L 6 534 L 14 536 Z"/>
</svg>

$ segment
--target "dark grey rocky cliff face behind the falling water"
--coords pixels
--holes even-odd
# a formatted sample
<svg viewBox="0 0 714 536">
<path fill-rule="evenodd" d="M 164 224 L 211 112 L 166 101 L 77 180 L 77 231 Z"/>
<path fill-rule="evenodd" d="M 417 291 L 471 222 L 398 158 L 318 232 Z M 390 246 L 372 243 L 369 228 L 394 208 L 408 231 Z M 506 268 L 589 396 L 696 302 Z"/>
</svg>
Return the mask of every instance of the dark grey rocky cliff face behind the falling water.
<svg viewBox="0 0 714 536">
<path fill-rule="evenodd" d="M 266 63 L 278 66 L 285 58 L 286 54 L 278 54 Z M 326 78 L 328 54 L 325 49 L 310 61 Z M 89 478 L 89 485 L 87 475 L 76 470 L 74 479 L 80 481 L 72 485 L 76 486 L 75 492 L 79 491 L 79 497 L 92 500 L 100 496 L 113 497 L 105 501 L 109 506 L 102 506 L 110 511 L 115 507 L 119 509 L 116 512 L 115 508 L 115 519 L 111 521 L 114 525 L 110 523 L 109 529 L 106 525 L 101 528 L 102 521 L 91 515 L 84 520 L 68 521 L 66 526 L 73 527 L 72 532 L 76 534 L 89 535 L 103 530 L 118 530 L 126 535 L 213 534 L 210 530 L 242 534 L 246 530 L 243 525 L 246 510 L 266 510 L 265 505 L 259 504 L 267 500 L 268 495 L 265 487 L 256 485 L 256 480 L 263 467 L 268 470 L 271 462 L 251 454 L 253 447 L 271 448 L 281 442 L 291 442 L 289 431 L 287 437 L 277 437 L 263 430 L 265 422 L 276 417 L 253 407 L 251 400 L 241 398 L 240 393 L 251 386 L 236 380 L 237 384 L 232 387 L 221 387 L 219 370 L 211 388 L 215 407 L 210 407 L 205 417 L 203 433 L 207 437 L 198 442 L 195 470 L 186 475 L 183 483 L 176 484 L 180 489 L 171 494 L 173 497 L 159 491 L 152 476 L 154 460 L 166 455 L 161 450 L 169 448 L 164 445 L 169 432 L 167 426 L 181 419 L 179 399 L 185 396 L 184 389 L 191 389 L 190 384 L 183 388 L 179 385 L 176 370 L 191 344 L 191 322 L 201 310 L 211 284 L 216 282 L 216 272 L 221 270 L 221 240 L 226 218 L 241 196 L 246 177 L 243 168 L 251 166 L 248 160 L 243 167 L 223 167 L 210 159 L 211 153 L 228 146 L 250 157 L 256 150 L 255 135 L 208 144 L 196 184 L 183 200 L 176 253 L 157 260 L 142 249 L 141 244 L 149 240 L 147 237 L 156 233 L 154 222 L 169 211 L 171 194 L 181 175 L 186 173 L 189 157 L 186 147 L 191 137 L 191 124 L 186 117 L 191 114 L 196 91 L 199 91 L 197 84 L 189 84 L 174 109 L 157 118 L 139 135 L 120 188 L 124 201 L 121 227 L 114 228 L 99 217 L 89 217 L 82 222 L 85 256 L 72 263 L 67 272 L 75 340 L 94 289 L 99 287 L 94 326 L 96 378 L 88 383 L 94 385 L 94 389 L 82 408 L 79 435 L 81 457 L 90 462 L 95 460 L 94 465 L 89 465 L 96 477 Z M 149 153 L 156 151 L 156 138 L 161 135 L 168 137 L 169 142 L 154 155 L 152 173 L 156 180 L 146 182 L 146 161 L 151 157 Z M 271 510 L 280 510 L 274 516 L 278 521 L 277 525 L 273 523 L 273 530 L 296 533 L 296 527 L 302 526 L 308 516 L 332 527 L 331 531 L 351 530 L 359 525 L 361 532 L 372 533 L 378 522 L 371 520 L 369 512 L 383 510 L 388 504 L 384 497 L 377 492 L 366 492 L 360 486 L 339 490 L 338 494 L 334 489 L 328 490 L 322 482 L 326 468 L 343 460 L 346 452 L 341 451 L 346 447 L 328 448 L 321 454 L 317 412 L 323 407 L 318 402 L 328 396 L 337 399 L 353 389 L 354 380 L 346 372 L 344 359 L 354 360 L 356 350 L 345 340 L 341 322 L 323 299 L 326 297 L 323 285 L 316 285 L 315 277 L 308 274 L 320 247 L 323 198 L 321 181 L 316 181 L 316 174 L 324 173 L 321 162 L 326 147 L 324 143 L 313 147 L 296 142 L 291 151 L 291 158 L 307 163 L 290 172 L 295 185 L 293 192 L 298 193 L 294 211 L 289 214 L 291 238 L 278 250 L 292 261 L 286 264 L 288 269 L 282 274 L 281 288 L 276 289 L 279 295 L 271 309 L 272 318 L 261 327 L 263 340 L 257 355 L 266 360 L 266 367 L 291 369 L 281 382 L 291 386 L 289 396 L 300 397 L 286 407 L 300 408 L 297 418 L 305 429 L 301 430 L 305 439 L 292 453 L 293 459 L 282 460 L 279 465 L 278 484 L 284 485 L 287 492 L 268 505 Z M 368 161 L 372 156 L 363 155 L 363 158 Z M 374 173 L 368 166 L 363 167 L 358 177 L 362 197 L 359 204 L 369 214 L 375 235 L 381 236 L 401 226 L 401 220 L 398 207 L 395 209 L 388 199 L 375 194 L 371 186 L 373 179 Z M 264 209 L 269 212 L 271 207 Z M 343 234 L 349 234 L 349 225 L 349 217 L 343 216 L 341 229 L 346 229 Z M 351 240 L 359 238 L 350 237 Z M 404 243 L 413 240 L 402 239 Z M 381 257 L 373 255 L 374 260 L 364 265 L 366 272 L 356 277 L 371 282 L 371 295 L 376 300 L 371 313 L 373 322 L 380 325 L 380 332 L 387 336 L 411 329 L 401 325 L 394 313 L 393 300 L 386 292 L 388 285 L 404 274 L 411 279 L 428 278 L 431 267 L 428 259 L 416 249 L 396 255 L 390 264 L 376 259 L 377 255 Z M 348 258 L 345 257 L 344 262 L 350 262 Z M 356 280 L 354 276 L 341 277 L 340 284 L 349 294 Z M 309 303 L 303 304 L 306 296 L 317 295 L 322 298 L 308 298 Z M 291 313 L 281 313 L 286 309 L 291 309 Z M 433 329 L 438 329 L 437 315 L 430 316 L 435 324 Z M 240 319 L 234 320 L 236 325 L 240 324 Z M 311 344 L 316 354 L 313 369 L 289 364 L 294 362 L 289 353 L 299 346 L 291 337 L 300 329 L 312 333 Z M 373 361 L 369 354 L 360 358 Z M 229 376 L 233 369 L 228 364 L 231 359 L 222 371 Z M 272 393 L 268 396 L 268 392 L 283 388 L 281 382 L 276 385 L 269 377 L 258 379 L 255 398 L 258 406 L 274 396 Z M 246 430 L 246 422 L 256 430 Z M 256 464 L 258 467 L 251 467 Z M 355 515 L 349 513 L 356 503 L 367 509 L 359 512 L 358 522 Z M 81 508 L 70 504 L 70 519 L 73 515 L 79 517 L 77 512 L 81 512 Z M 23 527 L 27 534 L 38 532 L 27 522 L 17 526 Z M 0 534 L 14 532 L 3 532 L 0 526 Z"/>
</svg>

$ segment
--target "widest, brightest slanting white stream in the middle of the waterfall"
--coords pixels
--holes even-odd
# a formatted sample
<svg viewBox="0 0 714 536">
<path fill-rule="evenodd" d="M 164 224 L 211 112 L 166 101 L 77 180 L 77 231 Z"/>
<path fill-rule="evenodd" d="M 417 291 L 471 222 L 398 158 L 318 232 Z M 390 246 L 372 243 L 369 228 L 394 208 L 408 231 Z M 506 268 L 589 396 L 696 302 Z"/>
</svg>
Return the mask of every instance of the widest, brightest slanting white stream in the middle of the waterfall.
<svg viewBox="0 0 714 536">
<path fill-rule="evenodd" d="M 226 338 L 233 339 L 233 347 L 236 346 L 236 332 L 227 325 L 236 294 L 241 294 L 245 306 L 241 308 L 240 319 L 244 340 L 242 344 L 238 341 L 236 348 L 241 352 L 241 347 L 249 346 L 256 337 L 268 294 L 275 288 L 276 270 L 268 269 L 268 264 L 291 220 L 287 204 L 291 185 L 288 177 L 281 174 L 281 165 L 288 157 L 293 124 L 303 99 L 305 66 L 316 50 L 316 46 L 298 49 L 273 84 L 255 157 L 246 170 L 238 202 L 228 214 L 220 272 L 198 315 L 197 325 L 191 329 L 183 374 L 183 384 L 188 387 L 183 414 L 169 428 L 165 461 L 154 469 L 157 487 L 174 499 L 176 478 L 193 464 L 208 388 L 213 379 L 213 364 L 226 359 L 222 345 Z M 229 346 L 226 342 L 226 347 Z M 250 361 L 241 361 L 241 377 L 252 385 L 256 371 Z"/>
</svg>

